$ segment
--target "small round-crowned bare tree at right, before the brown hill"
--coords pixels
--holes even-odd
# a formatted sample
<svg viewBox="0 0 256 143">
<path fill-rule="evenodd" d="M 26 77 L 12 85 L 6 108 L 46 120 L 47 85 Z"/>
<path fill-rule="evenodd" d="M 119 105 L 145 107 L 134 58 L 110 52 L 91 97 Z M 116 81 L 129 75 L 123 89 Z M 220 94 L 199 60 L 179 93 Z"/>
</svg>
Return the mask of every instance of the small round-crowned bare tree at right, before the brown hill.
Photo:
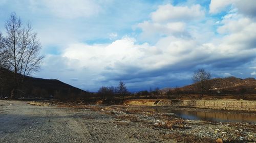
<svg viewBox="0 0 256 143">
<path fill-rule="evenodd" d="M 207 87 L 207 80 L 209 80 L 210 78 L 211 78 L 211 73 L 206 71 L 205 69 L 199 69 L 193 74 L 192 80 L 195 83 L 199 83 L 202 96 L 203 96 L 204 90 L 206 90 L 206 87 Z"/>
</svg>

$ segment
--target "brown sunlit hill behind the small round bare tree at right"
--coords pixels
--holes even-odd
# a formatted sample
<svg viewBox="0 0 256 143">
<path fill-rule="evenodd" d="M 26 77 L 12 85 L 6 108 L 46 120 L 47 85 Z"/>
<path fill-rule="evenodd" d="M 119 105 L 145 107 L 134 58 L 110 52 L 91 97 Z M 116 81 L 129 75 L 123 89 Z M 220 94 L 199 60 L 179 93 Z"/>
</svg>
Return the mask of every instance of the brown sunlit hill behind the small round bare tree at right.
<svg viewBox="0 0 256 143">
<path fill-rule="evenodd" d="M 254 78 L 241 79 L 237 77 L 214 78 L 208 80 L 209 93 L 218 94 L 239 94 L 241 89 L 245 89 L 247 94 L 256 94 L 256 80 Z M 167 92 L 168 88 L 162 89 L 162 92 Z M 198 93 L 198 84 L 193 83 L 181 88 L 170 88 L 170 91 L 179 91 L 183 94 Z"/>
</svg>

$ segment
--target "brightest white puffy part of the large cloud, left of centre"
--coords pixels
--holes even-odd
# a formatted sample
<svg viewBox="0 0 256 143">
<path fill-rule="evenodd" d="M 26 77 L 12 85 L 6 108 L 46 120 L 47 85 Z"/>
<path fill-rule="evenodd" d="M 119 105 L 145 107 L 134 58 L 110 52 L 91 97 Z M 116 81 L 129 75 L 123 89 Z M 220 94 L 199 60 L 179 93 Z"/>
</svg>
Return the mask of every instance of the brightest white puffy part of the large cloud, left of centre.
<svg viewBox="0 0 256 143">
<path fill-rule="evenodd" d="M 63 56 L 79 60 L 77 68 L 90 67 L 100 71 L 106 67 L 114 69 L 117 63 L 125 65 L 140 64 L 137 60 L 145 56 L 144 50 L 146 49 L 150 51 L 152 47 L 146 43 L 136 45 L 134 39 L 125 37 L 106 45 L 72 44 L 65 49 Z M 76 68 L 76 66 L 73 68 Z"/>
</svg>

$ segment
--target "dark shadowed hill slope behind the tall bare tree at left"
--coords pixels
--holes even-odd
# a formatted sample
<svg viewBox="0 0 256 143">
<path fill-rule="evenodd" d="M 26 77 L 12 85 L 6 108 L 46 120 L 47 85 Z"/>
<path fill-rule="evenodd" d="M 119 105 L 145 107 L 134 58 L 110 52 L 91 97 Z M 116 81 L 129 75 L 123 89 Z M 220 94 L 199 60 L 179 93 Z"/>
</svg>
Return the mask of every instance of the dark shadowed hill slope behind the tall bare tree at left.
<svg viewBox="0 0 256 143">
<path fill-rule="evenodd" d="M 12 89 L 11 76 L 13 76 L 13 72 L 3 68 L 0 69 L 0 88 L 3 88 L 2 94 L 8 97 Z M 30 76 L 25 77 L 24 83 L 20 86 L 19 91 L 19 97 L 49 97 L 57 96 L 57 94 L 58 96 L 67 96 L 67 94 L 77 95 L 88 93 L 57 79 L 42 79 Z"/>
</svg>

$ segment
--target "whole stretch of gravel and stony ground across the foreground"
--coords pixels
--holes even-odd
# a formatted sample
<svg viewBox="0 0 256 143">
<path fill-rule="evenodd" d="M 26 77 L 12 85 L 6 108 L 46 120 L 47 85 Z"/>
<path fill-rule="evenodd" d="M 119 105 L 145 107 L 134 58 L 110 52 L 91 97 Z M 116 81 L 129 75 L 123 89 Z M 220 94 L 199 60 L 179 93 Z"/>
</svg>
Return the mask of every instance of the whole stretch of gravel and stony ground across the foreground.
<svg viewBox="0 0 256 143">
<path fill-rule="evenodd" d="M 256 125 L 183 120 L 172 114 L 125 106 L 0 100 L 0 142 L 216 142 L 217 139 L 255 142 Z"/>
</svg>

